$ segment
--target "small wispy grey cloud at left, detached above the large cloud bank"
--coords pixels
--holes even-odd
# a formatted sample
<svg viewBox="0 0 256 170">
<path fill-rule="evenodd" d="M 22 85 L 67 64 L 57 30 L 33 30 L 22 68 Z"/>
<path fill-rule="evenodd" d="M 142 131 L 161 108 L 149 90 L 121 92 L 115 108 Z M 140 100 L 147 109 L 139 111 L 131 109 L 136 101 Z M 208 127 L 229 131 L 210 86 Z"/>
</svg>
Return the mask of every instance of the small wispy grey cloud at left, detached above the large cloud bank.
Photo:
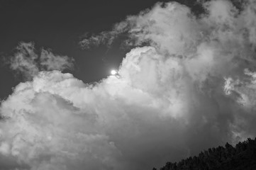
<svg viewBox="0 0 256 170">
<path fill-rule="evenodd" d="M 67 56 L 54 55 L 50 50 L 42 49 L 40 55 L 35 52 L 33 42 L 20 42 L 17 52 L 9 59 L 10 68 L 25 79 L 33 78 L 38 72 L 47 70 L 72 69 L 74 60 Z"/>
</svg>

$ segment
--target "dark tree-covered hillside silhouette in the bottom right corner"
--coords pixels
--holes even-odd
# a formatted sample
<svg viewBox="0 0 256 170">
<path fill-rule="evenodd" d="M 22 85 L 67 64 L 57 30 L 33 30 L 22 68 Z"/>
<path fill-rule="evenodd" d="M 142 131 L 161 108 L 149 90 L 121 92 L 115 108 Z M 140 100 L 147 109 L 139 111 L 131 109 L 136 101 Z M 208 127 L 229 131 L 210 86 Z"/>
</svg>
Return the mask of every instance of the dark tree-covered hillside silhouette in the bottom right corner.
<svg viewBox="0 0 256 170">
<path fill-rule="evenodd" d="M 256 170 L 256 137 L 239 142 L 235 147 L 227 142 L 225 147 L 210 148 L 197 157 L 167 162 L 159 170 Z"/>
</svg>

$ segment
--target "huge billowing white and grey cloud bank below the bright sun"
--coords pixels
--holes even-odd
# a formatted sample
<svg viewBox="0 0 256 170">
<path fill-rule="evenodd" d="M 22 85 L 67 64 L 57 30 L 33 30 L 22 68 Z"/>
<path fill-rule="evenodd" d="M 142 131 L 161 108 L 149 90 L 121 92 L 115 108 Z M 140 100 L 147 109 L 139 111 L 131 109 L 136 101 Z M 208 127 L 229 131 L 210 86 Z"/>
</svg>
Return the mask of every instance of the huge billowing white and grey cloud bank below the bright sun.
<svg viewBox="0 0 256 170">
<path fill-rule="evenodd" d="M 207 13 L 194 16 L 158 3 L 96 35 L 128 33 L 138 45 L 120 77 L 89 85 L 36 69 L 1 103 L 1 157 L 17 169 L 152 169 L 255 137 L 255 1 L 243 11 L 230 1 L 202 5 Z"/>
</svg>

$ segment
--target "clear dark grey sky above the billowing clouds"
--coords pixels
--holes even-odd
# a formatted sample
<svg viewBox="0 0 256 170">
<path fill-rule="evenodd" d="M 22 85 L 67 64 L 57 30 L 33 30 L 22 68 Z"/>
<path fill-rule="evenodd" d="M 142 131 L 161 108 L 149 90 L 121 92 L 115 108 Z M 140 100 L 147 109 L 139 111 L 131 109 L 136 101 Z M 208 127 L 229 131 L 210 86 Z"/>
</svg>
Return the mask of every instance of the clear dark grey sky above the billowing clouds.
<svg viewBox="0 0 256 170">
<path fill-rule="evenodd" d="M 85 83 L 99 81 L 118 68 L 126 51 L 118 45 L 109 49 L 102 45 L 89 50 L 79 47 L 84 33 L 111 30 L 114 23 L 128 15 L 135 15 L 153 6 L 148 1 L 0 1 L 0 54 L 1 58 L 13 55 L 18 42 L 34 42 L 35 48 L 52 49 L 56 55 L 67 55 L 75 60 L 72 74 Z M 192 1 L 181 1 L 191 6 Z M 11 94 L 21 78 L 2 62 L 0 98 Z M 70 71 L 69 71 L 70 72 Z"/>
</svg>

